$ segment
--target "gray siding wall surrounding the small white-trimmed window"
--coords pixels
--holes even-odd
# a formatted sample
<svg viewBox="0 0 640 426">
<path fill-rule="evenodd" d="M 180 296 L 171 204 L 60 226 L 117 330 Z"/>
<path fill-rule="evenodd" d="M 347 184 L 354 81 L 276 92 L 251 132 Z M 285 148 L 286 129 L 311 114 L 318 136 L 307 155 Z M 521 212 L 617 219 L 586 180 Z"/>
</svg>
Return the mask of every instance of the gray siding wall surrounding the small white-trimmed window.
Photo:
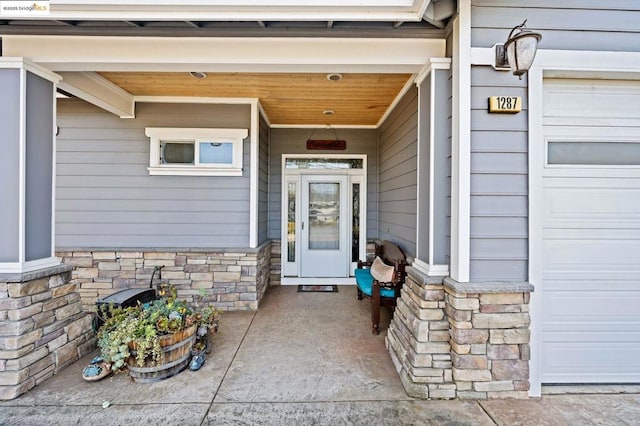
<svg viewBox="0 0 640 426">
<path fill-rule="evenodd" d="M 145 127 L 250 128 L 249 105 L 144 104 L 123 120 L 58 104 L 56 244 L 247 247 L 249 138 L 241 177 L 150 176 Z"/>
</svg>

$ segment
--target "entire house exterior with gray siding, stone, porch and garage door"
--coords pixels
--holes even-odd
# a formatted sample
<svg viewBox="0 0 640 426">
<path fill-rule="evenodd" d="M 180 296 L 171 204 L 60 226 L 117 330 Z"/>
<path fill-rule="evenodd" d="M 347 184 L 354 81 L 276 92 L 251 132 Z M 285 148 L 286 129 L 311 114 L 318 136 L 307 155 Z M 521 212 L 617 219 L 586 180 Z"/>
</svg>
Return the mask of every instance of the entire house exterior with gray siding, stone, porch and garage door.
<svg viewBox="0 0 640 426">
<path fill-rule="evenodd" d="M 635 2 L 91 3 L 0 14 L 0 398 L 155 266 L 255 310 L 353 283 L 375 239 L 411 262 L 386 336 L 409 395 L 640 381 Z M 519 79 L 494 45 L 525 19 Z"/>
</svg>

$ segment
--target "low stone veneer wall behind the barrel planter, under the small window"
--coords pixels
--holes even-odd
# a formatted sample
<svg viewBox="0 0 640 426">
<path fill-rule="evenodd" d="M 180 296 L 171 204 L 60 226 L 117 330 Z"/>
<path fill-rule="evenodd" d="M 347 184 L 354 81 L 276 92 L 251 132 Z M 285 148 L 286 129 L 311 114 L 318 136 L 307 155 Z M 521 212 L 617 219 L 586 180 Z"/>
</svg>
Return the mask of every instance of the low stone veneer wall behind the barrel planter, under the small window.
<svg viewBox="0 0 640 426">
<path fill-rule="evenodd" d="M 79 249 L 57 253 L 74 266 L 82 304 L 95 310 L 96 300 L 126 288 L 148 288 L 153 269 L 162 268 L 162 282 L 178 297 L 190 300 L 205 293 L 218 309 L 256 310 L 271 274 L 271 243 L 255 249 Z M 154 280 L 154 285 L 159 282 Z"/>
</svg>

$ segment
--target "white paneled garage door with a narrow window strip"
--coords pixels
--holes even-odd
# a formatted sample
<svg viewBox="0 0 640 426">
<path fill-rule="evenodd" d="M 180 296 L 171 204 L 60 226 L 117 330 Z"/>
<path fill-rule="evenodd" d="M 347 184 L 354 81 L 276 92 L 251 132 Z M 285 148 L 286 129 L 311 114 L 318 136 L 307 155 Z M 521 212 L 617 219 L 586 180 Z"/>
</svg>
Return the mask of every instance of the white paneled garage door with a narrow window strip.
<svg viewBox="0 0 640 426">
<path fill-rule="evenodd" d="M 542 383 L 640 382 L 640 82 L 545 80 Z"/>
</svg>

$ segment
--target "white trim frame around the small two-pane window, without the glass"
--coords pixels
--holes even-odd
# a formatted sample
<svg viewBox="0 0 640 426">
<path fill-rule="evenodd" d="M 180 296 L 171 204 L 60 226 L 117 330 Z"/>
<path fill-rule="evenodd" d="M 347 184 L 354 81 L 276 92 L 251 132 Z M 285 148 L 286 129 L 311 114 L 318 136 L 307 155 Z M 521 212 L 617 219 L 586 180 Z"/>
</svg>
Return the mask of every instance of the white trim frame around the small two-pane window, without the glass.
<svg viewBox="0 0 640 426">
<path fill-rule="evenodd" d="M 242 176 L 243 142 L 249 135 L 248 129 L 205 129 L 147 127 L 145 134 L 150 138 L 149 170 L 154 176 Z M 194 144 L 196 163 L 191 165 L 168 165 L 160 163 L 161 142 Z M 226 164 L 198 164 L 200 142 L 233 143 L 233 162 Z"/>
</svg>

